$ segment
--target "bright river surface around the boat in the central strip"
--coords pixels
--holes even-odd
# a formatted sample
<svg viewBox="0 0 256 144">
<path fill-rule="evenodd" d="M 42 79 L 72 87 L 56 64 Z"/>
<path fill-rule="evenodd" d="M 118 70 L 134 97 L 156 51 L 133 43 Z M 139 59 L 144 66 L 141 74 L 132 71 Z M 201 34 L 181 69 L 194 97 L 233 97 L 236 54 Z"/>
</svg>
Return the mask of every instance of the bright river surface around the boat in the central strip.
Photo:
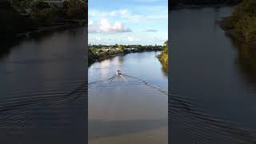
<svg viewBox="0 0 256 144">
<path fill-rule="evenodd" d="M 168 77 L 158 54 L 126 54 L 89 67 L 90 144 L 167 143 Z"/>
</svg>

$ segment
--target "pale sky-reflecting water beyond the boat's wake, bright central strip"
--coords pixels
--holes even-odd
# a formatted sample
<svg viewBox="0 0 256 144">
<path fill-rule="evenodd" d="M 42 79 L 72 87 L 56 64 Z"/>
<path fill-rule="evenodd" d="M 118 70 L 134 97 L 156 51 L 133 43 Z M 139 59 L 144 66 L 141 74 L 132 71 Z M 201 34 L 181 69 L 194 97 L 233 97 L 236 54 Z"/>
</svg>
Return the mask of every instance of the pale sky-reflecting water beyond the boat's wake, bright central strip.
<svg viewBox="0 0 256 144">
<path fill-rule="evenodd" d="M 160 53 L 160 51 L 132 53 L 94 62 L 88 70 L 89 81 L 105 80 L 112 77 L 116 70 L 121 70 L 167 90 L 168 78 L 157 58 Z"/>
</svg>

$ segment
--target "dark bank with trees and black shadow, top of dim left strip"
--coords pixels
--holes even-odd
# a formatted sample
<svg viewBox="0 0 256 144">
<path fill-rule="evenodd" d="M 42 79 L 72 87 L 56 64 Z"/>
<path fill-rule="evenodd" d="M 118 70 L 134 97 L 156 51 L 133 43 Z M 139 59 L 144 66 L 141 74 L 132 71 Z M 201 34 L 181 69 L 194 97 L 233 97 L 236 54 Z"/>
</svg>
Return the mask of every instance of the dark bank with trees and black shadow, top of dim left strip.
<svg viewBox="0 0 256 144">
<path fill-rule="evenodd" d="M 2 39 L 26 38 L 86 24 L 86 1 L 3 0 L 0 8 Z"/>
</svg>

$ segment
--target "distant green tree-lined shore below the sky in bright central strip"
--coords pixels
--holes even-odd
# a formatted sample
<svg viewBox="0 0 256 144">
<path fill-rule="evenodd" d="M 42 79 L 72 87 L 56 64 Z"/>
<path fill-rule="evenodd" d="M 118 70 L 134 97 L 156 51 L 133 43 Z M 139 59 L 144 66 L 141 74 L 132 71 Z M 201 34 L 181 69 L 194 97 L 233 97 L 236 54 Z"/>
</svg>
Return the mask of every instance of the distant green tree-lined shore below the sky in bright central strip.
<svg viewBox="0 0 256 144">
<path fill-rule="evenodd" d="M 142 46 L 142 45 L 89 45 L 89 64 L 98 62 L 107 58 L 114 58 L 118 55 L 138 53 L 145 51 L 160 51 L 163 46 Z"/>
</svg>

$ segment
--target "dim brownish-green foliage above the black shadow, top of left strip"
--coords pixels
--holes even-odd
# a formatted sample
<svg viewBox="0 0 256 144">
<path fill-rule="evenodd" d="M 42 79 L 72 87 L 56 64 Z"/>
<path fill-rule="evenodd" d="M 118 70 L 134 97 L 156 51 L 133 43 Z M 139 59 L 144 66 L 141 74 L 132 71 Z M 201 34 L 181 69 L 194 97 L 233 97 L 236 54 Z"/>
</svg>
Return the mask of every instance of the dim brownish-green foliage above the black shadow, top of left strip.
<svg viewBox="0 0 256 144">
<path fill-rule="evenodd" d="M 38 22 L 54 22 L 64 19 L 86 19 L 87 0 L 67 0 L 63 7 L 42 0 L 13 0 L 14 10 L 28 14 Z"/>
</svg>

